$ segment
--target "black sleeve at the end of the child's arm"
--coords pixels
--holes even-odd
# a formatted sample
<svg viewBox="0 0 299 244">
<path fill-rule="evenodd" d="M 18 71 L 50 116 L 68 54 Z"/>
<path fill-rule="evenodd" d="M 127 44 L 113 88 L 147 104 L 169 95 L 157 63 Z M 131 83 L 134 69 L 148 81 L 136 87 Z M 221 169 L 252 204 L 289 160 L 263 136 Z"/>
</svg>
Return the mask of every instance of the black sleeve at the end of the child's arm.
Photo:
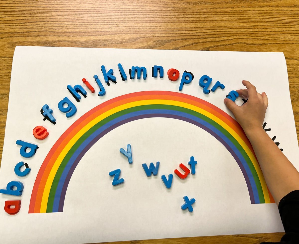
<svg viewBox="0 0 299 244">
<path fill-rule="evenodd" d="M 286 234 L 281 243 L 299 243 L 299 190 L 292 191 L 283 197 L 278 210 Z"/>
</svg>

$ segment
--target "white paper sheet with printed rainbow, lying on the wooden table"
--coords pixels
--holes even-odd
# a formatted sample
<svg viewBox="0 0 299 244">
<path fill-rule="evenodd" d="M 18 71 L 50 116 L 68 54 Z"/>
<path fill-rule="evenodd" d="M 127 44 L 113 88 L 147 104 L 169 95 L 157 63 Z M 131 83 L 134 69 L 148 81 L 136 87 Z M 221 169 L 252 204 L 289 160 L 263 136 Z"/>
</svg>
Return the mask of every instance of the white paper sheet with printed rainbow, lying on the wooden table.
<svg viewBox="0 0 299 244">
<path fill-rule="evenodd" d="M 128 79 L 122 81 L 121 63 Z M 103 79 L 101 66 L 114 70 L 117 83 Z M 164 78 L 152 77 L 152 66 L 164 68 Z M 144 66 L 147 79 L 131 80 L 128 70 Z M 167 71 L 179 70 L 178 81 L 170 81 Z M 184 71 L 194 80 L 179 91 Z M 98 75 L 106 94 L 100 91 L 93 76 Z M 220 81 L 225 89 L 204 94 L 199 78 L 213 78 L 211 87 Z M 94 87 L 91 93 L 82 78 Z M 213 104 L 233 116 L 223 103 L 231 90 L 242 88 L 241 81 L 251 81 L 257 91 L 269 98 L 266 113 L 267 133 L 276 137 L 279 148 L 299 169 L 298 142 L 289 95 L 286 61 L 283 53 L 172 51 L 135 49 L 88 49 L 56 47 L 16 47 L 10 83 L 10 97 L 0 171 L 0 188 L 10 181 L 24 184 L 22 196 L 0 194 L 1 243 L 93 243 L 170 237 L 247 234 L 283 231 L 274 203 L 251 204 L 248 187 L 232 154 L 213 135 L 179 119 L 149 117 L 118 126 L 105 134 L 84 154 L 69 181 L 63 212 L 28 213 L 36 176 L 45 157 L 59 137 L 86 112 L 103 102 L 141 91 L 176 92 Z M 66 89 L 80 84 L 87 97 L 76 102 Z M 67 118 L 58 103 L 68 97 L 77 107 Z M 242 99 L 237 98 L 238 104 Z M 56 125 L 43 121 L 40 110 L 48 104 Z M 45 140 L 33 137 L 34 127 L 49 131 Z M 16 140 L 39 146 L 33 157 L 19 153 Z M 133 163 L 119 151 L 132 146 Z M 180 179 L 173 173 L 179 163 L 189 168 L 194 156 L 196 173 Z M 19 177 L 14 167 L 28 163 L 30 173 Z M 142 163 L 159 161 L 158 175 L 147 177 Z M 109 172 L 121 169 L 123 184 L 112 186 Z M 180 169 L 181 171 L 181 169 Z M 182 172 L 182 171 L 181 171 Z M 161 175 L 173 174 L 167 189 Z M 193 212 L 182 210 L 183 197 L 195 198 Z M 21 200 L 16 215 L 7 214 L 7 200 Z"/>
</svg>

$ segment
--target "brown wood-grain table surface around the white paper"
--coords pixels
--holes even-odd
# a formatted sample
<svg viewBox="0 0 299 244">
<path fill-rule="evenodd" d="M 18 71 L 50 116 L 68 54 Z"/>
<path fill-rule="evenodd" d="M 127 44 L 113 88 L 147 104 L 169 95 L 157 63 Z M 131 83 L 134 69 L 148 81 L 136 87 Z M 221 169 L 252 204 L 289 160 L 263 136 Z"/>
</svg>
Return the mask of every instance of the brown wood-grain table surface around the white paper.
<svg viewBox="0 0 299 244">
<path fill-rule="evenodd" d="M 296 0 L 1 0 L 0 157 L 15 46 L 283 52 L 299 131 L 298 4 Z M 282 235 L 228 235 L 119 243 L 241 244 L 279 241 Z"/>
</svg>

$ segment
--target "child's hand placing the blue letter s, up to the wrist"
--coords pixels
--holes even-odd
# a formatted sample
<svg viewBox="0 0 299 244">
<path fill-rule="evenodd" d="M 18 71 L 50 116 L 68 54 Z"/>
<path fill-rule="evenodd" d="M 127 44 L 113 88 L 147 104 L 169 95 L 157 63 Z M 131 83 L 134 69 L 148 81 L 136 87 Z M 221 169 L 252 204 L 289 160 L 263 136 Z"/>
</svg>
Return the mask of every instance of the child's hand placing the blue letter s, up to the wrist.
<svg viewBox="0 0 299 244">
<path fill-rule="evenodd" d="M 242 81 L 242 84 L 247 89 L 237 90 L 237 93 L 245 99 L 248 98 L 248 101 L 243 106 L 238 106 L 231 99 L 225 98 L 224 103 L 246 133 L 262 128 L 268 107 L 268 97 L 264 92 L 257 93 L 255 86 L 249 81 Z"/>
</svg>

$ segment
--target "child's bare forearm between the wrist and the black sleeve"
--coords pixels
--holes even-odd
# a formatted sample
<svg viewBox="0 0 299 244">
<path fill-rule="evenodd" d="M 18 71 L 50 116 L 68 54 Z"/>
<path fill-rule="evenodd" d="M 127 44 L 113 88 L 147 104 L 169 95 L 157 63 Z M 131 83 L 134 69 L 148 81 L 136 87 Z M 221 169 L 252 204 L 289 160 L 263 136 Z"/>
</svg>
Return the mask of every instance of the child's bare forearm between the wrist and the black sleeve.
<svg viewBox="0 0 299 244">
<path fill-rule="evenodd" d="M 299 173 L 261 127 L 245 131 L 254 149 L 267 186 L 276 204 L 293 190 L 299 190 Z"/>
</svg>

